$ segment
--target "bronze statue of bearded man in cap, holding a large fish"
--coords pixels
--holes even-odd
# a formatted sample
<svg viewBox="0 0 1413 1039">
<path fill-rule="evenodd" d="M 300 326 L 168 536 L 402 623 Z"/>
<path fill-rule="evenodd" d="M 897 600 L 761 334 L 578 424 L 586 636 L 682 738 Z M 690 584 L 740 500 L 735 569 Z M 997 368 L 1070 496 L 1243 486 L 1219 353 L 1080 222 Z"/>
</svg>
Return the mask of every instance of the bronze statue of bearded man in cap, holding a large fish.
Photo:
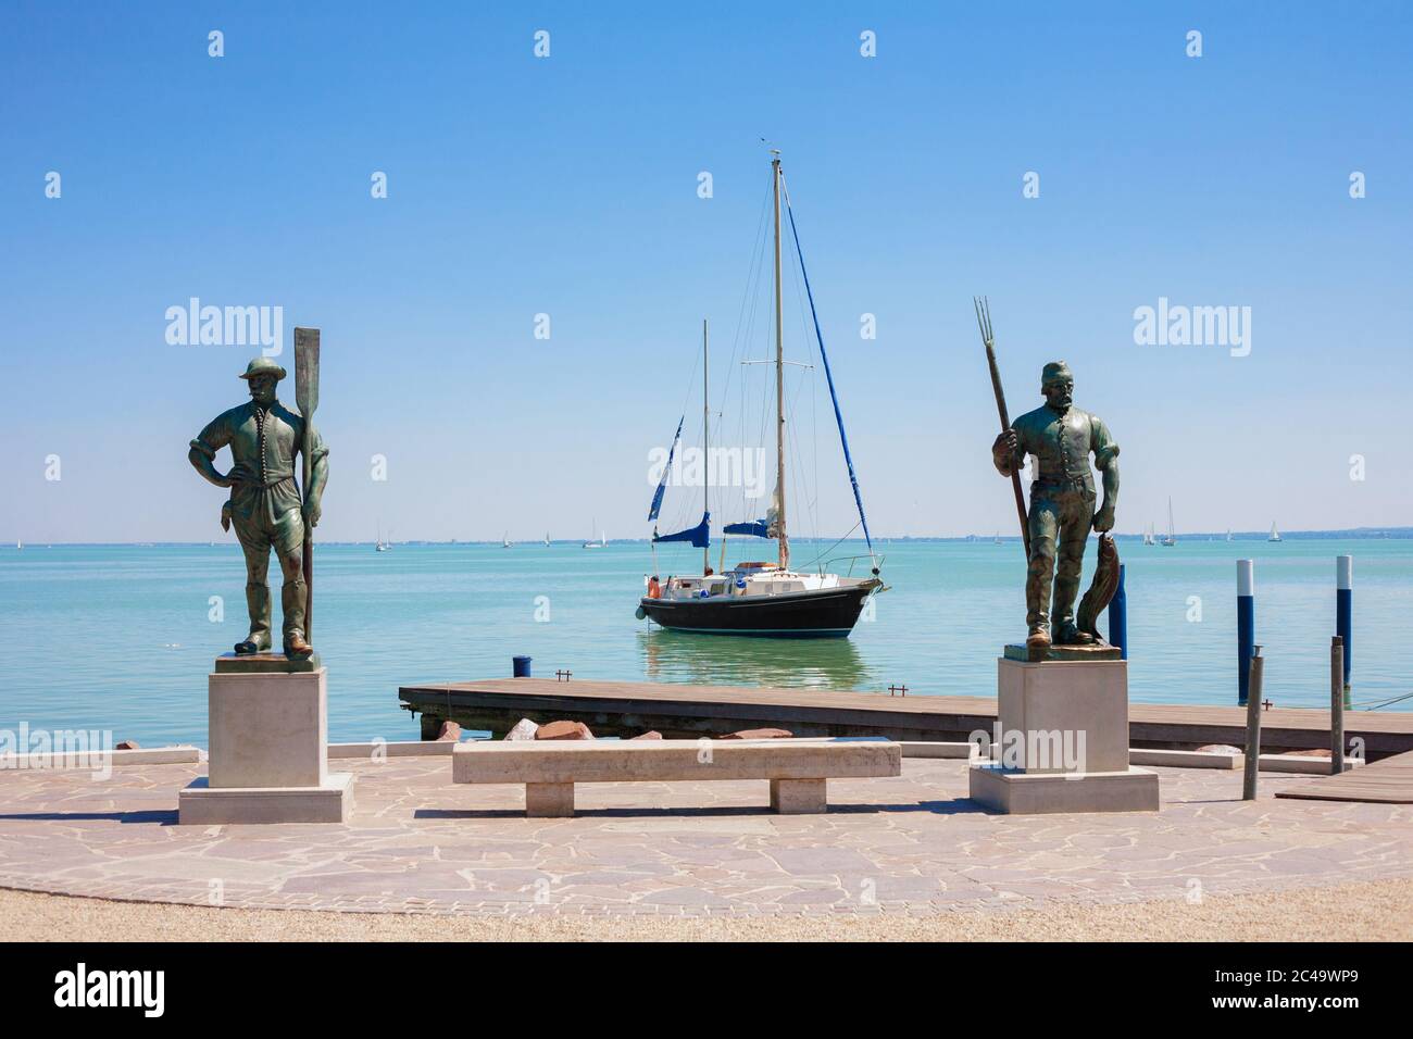
<svg viewBox="0 0 1413 1039">
<path fill-rule="evenodd" d="M 1098 588 L 1099 578 L 1118 581 L 1118 553 L 1113 539 L 1105 534 L 1113 529 L 1113 506 L 1119 498 L 1119 445 L 1098 416 L 1074 406 L 1074 376 L 1063 360 L 1044 366 L 1040 392 L 1046 403 L 1016 418 L 992 445 L 992 461 L 1003 476 L 1020 472 L 1027 454 L 1039 462 L 1030 485 L 1027 515 L 1026 646 L 1031 650 L 1044 650 L 1051 643 L 1084 646 L 1099 642 L 1094 619 L 1113 594 L 1112 587 Z M 1091 452 L 1095 468 L 1104 476 L 1104 500 L 1098 510 L 1094 507 Z M 1084 546 L 1091 530 L 1101 534 L 1099 574 L 1096 587 L 1081 604 L 1077 622 L 1075 595 L 1080 592 Z M 1112 560 L 1111 567 L 1105 565 L 1108 560 Z M 1112 578 L 1105 571 L 1112 571 Z"/>
</svg>

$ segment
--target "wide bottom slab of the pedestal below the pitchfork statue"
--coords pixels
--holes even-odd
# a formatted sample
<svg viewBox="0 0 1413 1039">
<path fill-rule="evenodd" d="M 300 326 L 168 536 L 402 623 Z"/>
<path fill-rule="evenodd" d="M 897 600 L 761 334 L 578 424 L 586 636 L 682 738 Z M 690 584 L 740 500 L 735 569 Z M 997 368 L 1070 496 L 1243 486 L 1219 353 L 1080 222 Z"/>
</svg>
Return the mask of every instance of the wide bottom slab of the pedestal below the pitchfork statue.
<svg viewBox="0 0 1413 1039">
<path fill-rule="evenodd" d="M 1016 772 L 993 762 L 974 765 L 969 796 L 993 811 L 1016 816 L 1078 811 L 1157 811 L 1157 773 L 1129 768 L 1125 772 Z"/>
</svg>

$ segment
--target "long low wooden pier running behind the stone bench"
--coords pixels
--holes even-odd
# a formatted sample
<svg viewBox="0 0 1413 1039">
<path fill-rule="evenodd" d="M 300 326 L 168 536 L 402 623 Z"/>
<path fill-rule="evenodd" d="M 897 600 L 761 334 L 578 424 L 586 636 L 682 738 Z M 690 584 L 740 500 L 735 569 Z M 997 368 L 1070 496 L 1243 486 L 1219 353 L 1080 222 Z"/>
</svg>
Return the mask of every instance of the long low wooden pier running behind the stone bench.
<svg viewBox="0 0 1413 1039">
<path fill-rule="evenodd" d="M 797 736 L 882 735 L 893 739 L 965 741 L 996 722 L 991 697 L 893 697 L 885 693 L 687 686 L 649 681 L 486 679 L 404 686 L 398 698 L 421 714 L 422 738 L 444 721 L 504 735 L 521 718 L 582 721 L 596 735 L 633 736 L 657 729 L 668 739 L 783 728 Z M 1413 751 L 1413 712 L 1345 711 L 1347 739 L 1362 739 L 1369 761 Z M 1190 751 L 1205 744 L 1241 746 L 1242 707 L 1129 704 L 1133 746 Z M 1330 712 L 1273 707 L 1262 714 L 1262 751 L 1330 746 Z"/>
</svg>

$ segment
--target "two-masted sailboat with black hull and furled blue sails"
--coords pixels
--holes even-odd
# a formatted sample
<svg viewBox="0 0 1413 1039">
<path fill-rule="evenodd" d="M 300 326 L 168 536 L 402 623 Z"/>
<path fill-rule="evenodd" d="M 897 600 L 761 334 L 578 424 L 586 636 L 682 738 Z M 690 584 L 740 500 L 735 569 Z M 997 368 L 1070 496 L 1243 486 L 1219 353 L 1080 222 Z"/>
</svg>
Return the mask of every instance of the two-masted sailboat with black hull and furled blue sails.
<svg viewBox="0 0 1413 1039">
<path fill-rule="evenodd" d="M 733 568 L 722 574 L 714 574 L 711 568 L 711 510 L 704 502 L 702 519 L 695 527 L 680 530 L 674 534 L 658 534 L 653 529 L 653 553 L 660 541 L 688 541 L 692 547 L 702 550 L 702 574 L 690 577 L 673 577 L 666 585 L 656 581 L 649 584 L 649 594 L 639 601 L 637 616 L 651 618 L 663 628 L 684 632 L 701 632 L 708 635 L 763 635 L 777 638 L 848 638 L 853 625 L 863 611 L 868 598 L 883 587 L 879 580 L 880 560 L 873 554 L 873 539 L 869 534 L 868 519 L 863 515 L 863 499 L 859 493 L 859 482 L 853 472 L 853 459 L 849 455 L 849 441 L 844 433 L 844 418 L 839 413 L 839 399 L 834 390 L 834 376 L 829 372 L 829 359 L 824 351 L 824 336 L 820 334 L 820 319 L 814 311 L 814 294 L 810 290 L 810 276 L 804 269 L 804 252 L 800 249 L 800 236 L 794 223 L 794 213 L 790 209 L 790 195 L 784 189 L 784 174 L 780 168 L 780 153 L 771 150 L 771 195 L 774 199 L 774 339 L 776 339 L 776 491 L 771 505 L 764 519 L 728 523 L 722 527 L 725 534 L 745 534 L 750 537 L 771 539 L 777 546 L 774 563 L 755 561 L 738 563 Z M 784 410 L 784 331 L 783 331 L 783 303 L 780 276 L 780 201 L 784 194 L 786 211 L 790 216 L 790 230 L 794 237 L 796 254 L 800 257 L 800 274 L 805 294 L 810 298 L 810 311 L 814 315 L 815 338 L 820 345 L 820 356 L 824 360 L 825 377 L 829 382 L 829 397 L 834 401 L 834 414 L 839 425 L 839 442 L 844 448 L 844 459 L 849 469 L 849 482 L 853 485 L 853 499 L 859 509 L 859 522 L 863 527 L 863 537 L 869 546 L 869 560 L 872 573 L 869 577 L 839 577 L 824 573 L 824 567 L 817 574 L 805 574 L 790 567 L 790 539 L 786 529 L 786 410 Z M 702 447 L 709 441 L 708 418 L 709 406 L 706 400 L 706 322 L 702 321 Z M 682 423 L 677 424 L 677 435 L 673 438 L 673 448 L 668 451 L 667 468 L 653 495 L 653 505 L 647 519 L 656 522 L 663 505 L 663 493 L 667 489 L 667 479 L 671 475 L 671 459 L 681 440 Z M 705 491 L 704 491 L 705 496 Z M 725 558 L 725 547 L 722 548 Z M 656 567 L 656 563 L 654 563 Z"/>
</svg>

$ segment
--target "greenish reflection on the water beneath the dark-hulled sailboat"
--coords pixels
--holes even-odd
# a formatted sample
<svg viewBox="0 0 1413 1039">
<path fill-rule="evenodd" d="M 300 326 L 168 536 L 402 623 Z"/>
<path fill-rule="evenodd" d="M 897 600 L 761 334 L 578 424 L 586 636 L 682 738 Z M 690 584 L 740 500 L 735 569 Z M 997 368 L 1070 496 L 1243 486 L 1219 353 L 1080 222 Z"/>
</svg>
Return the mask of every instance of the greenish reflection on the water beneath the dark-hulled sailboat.
<svg viewBox="0 0 1413 1039">
<path fill-rule="evenodd" d="M 637 632 L 649 681 L 858 691 L 877 687 L 852 639 L 699 639 L 656 625 Z"/>
</svg>

